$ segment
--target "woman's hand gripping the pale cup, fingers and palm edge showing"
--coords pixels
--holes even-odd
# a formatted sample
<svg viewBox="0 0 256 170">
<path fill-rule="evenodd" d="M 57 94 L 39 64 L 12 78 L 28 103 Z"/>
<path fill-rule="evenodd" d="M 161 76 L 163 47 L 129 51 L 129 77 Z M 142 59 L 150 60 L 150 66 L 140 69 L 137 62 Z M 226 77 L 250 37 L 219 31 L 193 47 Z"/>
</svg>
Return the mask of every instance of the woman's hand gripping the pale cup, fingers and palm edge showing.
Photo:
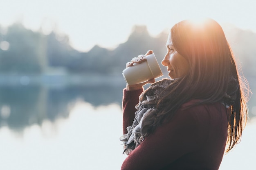
<svg viewBox="0 0 256 170">
<path fill-rule="evenodd" d="M 128 63 L 126 63 L 126 68 L 127 67 L 132 67 L 134 63 L 142 63 L 146 61 L 146 55 L 152 54 L 152 50 L 148 50 L 148 52 L 145 55 L 139 55 L 138 57 L 132 58 L 132 60 Z M 143 89 L 143 86 L 146 85 L 147 83 L 155 83 L 155 78 L 150 79 L 144 83 L 139 83 L 135 85 L 126 85 L 126 90 L 133 91 L 133 90 L 138 90 L 138 89 Z"/>
</svg>

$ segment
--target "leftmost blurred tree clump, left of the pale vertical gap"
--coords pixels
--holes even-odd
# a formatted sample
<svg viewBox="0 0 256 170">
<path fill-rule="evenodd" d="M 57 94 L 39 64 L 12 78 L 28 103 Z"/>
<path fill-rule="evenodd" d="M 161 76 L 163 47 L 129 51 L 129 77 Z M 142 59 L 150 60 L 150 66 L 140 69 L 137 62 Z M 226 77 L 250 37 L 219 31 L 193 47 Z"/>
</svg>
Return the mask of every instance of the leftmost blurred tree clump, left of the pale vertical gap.
<svg viewBox="0 0 256 170">
<path fill-rule="evenodd" d="M 27 30 L 20 24 L 13 24 L 6 33 L 2 32 L 0 34 L 0 72 L 41 72 L 40 43 L 43 35 Z"/>
</svg>

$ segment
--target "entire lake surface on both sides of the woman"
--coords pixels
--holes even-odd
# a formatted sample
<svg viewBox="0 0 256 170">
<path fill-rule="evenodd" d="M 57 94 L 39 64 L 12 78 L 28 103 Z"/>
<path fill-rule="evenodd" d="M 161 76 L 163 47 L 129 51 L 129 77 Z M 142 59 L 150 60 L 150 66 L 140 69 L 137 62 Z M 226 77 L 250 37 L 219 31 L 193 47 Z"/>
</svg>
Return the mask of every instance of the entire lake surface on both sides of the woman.
<svg viewBox="0 0 256 170">
<path fill-rule="evenodd" d="M 1 170 L 119 170 L 124 86 L 0 88 Z M 256 121 L 220 170 L 255 170 Z"/>
</svg>

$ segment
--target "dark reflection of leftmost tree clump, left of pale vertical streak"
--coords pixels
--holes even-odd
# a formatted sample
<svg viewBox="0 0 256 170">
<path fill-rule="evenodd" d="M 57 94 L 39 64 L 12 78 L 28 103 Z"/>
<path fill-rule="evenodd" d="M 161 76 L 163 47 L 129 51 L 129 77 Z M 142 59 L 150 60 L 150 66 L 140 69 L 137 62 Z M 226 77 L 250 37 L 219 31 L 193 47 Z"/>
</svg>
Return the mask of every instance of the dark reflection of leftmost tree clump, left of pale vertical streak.
<svg viewBox="0 0 256 170">
<path fill-rule="evenodd" d="M 40 124 L 44 115 L 42 94 L 40 87 L 1 87 L 0 125 L 18 130 L 31 124 L 31 120 Z"/>
</svg>

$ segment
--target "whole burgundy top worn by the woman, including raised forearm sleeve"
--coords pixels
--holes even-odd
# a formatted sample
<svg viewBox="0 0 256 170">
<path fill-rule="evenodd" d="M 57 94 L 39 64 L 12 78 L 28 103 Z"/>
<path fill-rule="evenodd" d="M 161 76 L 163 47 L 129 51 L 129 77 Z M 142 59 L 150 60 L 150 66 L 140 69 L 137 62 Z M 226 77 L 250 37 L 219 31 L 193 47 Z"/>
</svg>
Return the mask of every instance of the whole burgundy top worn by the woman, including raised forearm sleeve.
<svg viewBox="0 0 256 170">
<path fill-rule="evenodd" d="M 135 118 L 142 90 L 123 98 L 123 131 Z M 184 107 L 159 126 L 124 160 L 121 170 L 218 170 L 227 141 L 227 113 L 220 102 Z"/>
</svg>

